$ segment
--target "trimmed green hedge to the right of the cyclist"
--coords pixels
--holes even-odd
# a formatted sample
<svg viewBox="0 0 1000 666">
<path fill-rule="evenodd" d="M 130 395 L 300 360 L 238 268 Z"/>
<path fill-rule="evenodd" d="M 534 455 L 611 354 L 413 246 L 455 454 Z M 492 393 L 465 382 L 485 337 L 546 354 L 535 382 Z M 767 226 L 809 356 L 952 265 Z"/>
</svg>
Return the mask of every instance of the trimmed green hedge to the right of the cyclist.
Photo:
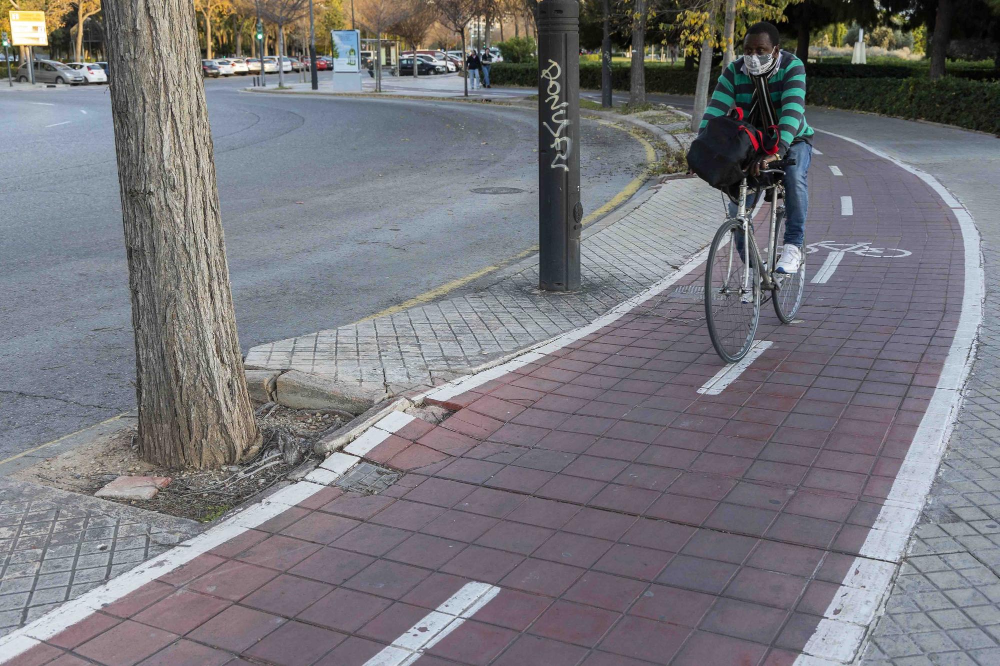
<svg viewBox="0 0 1000 666">
<path fill-rule="evenodd" d="M 1000 136 L 1000 83 L 945 77 L 809 81 L 809 104 L 930 120 Z"/>
</svg>

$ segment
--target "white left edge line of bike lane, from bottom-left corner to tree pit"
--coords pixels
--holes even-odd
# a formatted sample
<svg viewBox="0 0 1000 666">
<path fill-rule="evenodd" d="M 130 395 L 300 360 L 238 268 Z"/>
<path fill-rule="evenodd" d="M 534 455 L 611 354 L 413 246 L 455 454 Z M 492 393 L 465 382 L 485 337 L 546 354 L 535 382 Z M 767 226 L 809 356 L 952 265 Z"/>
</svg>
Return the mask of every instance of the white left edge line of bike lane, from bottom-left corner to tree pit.
<svg viewBox="0 0 1000 666">
<path fill-rule="evenodd" d="M 343 455 L 343 454 L 339 454 Z M 354 456 L 346 456 L 353 458 Z M 329 475 L 330 482 L 335 481 L 338 474 L 323 468 Z M 307 477 L 308 478 L 308 477 Z M 125 595 L 134 592 L 146 583 L 170 573 L 174 569 L 187 564 L 194 558 L 210 551 L 230 539 L 243 534 L 248 529 L 257 527 L 289 508 L 299 504 L 326 487 L 326 483 L 317 484 L 309 480 L 299 481 L 286 486 L 278 492 L 266 497 L 259 503 L 247 507 L 239 513 L 227 518 L 215 527 L 188 539 L 179 547 L 168 550 L 163 555 L 144 562 L 126 573 L 109 580 L 104 585 L 94 588 L 81 597 L 67 601 L 58 608 L 46 613 L 31 624 L 0 638 L 0 664 L 23 654 L 27 650 L 48 640 L 61 631 L 87 618 L 94 611 L 100 610 Z"/>
</svg>

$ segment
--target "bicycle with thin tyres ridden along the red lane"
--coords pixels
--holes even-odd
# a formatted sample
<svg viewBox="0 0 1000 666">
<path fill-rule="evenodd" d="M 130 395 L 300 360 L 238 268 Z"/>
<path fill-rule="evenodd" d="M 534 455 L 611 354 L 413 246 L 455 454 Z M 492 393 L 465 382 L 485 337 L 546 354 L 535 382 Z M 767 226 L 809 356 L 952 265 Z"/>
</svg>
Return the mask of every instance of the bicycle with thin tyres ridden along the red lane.
<svg viewBox="0 0 1000 666">
<path fill-rule="evenodd" d="M 739 361 L 750 351 L 760 320 L 763 291 L 771 292 L 774 312 L 783 324 L 790 323 L 802 305 L 805 252 L 798 272 L 774 272 L 785 226 L 785 209 L 778 204 L 784 191 L 780 176 L 784 175 L 785 167 L 794 164 L 795 160 L 780 160 L 761 171 L 779 178 L 769 187 L 756 188 L 754 209 L 749 214 L 747 193 L 751 188 L 744 176 L 739 185 L 736 216 L 727 217 L 712 239 L 705 267 L 705 318 L 712 346 L 727 363 Z M 762 191 L 764 196 L 761 196 Z M 767 253 L 762 258 L 754 238 L 753 218 L 768 199 L 769 235 Z M 749 261 L 746 261 L 748 255 Z"/>
</svg>

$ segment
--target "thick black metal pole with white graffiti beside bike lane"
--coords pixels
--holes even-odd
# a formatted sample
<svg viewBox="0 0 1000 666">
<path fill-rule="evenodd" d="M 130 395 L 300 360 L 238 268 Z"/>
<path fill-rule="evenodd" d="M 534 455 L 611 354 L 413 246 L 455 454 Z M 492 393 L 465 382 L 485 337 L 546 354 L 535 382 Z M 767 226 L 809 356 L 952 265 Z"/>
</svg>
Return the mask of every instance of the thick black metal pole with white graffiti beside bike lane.
<svg viewBox="0 0 1000 666">
<path fill-rule="evenodd" d="M 580 4 L 538 4 L 538 282 L 580 288 Z"/>
</svg>

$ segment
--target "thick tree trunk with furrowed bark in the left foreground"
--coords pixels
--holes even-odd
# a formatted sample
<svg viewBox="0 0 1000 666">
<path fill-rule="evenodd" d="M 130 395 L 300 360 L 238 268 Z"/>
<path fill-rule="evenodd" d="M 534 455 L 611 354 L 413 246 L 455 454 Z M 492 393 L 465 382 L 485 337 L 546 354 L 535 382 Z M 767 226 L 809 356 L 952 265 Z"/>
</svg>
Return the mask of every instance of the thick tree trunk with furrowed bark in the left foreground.
<svg viewBox="0 0 1000 666">
<path fill-rule="evenodd" d="M 139 452 L 165 467 L 234 463 L 256 452 L 260 434 L 236 336 L 194 7 L 103 5 Z"/>
</svg>

